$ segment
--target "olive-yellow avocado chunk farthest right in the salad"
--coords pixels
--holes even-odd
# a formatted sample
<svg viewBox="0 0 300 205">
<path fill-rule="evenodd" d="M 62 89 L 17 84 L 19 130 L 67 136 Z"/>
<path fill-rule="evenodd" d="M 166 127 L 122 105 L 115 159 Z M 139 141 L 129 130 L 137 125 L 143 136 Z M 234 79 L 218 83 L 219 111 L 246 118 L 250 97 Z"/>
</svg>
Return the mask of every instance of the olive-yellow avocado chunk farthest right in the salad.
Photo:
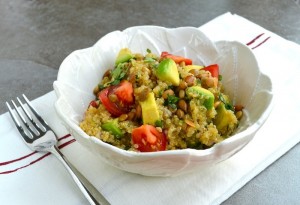
<svg viewBox="0 0 300 205">
<path fill-rule="evenodd" d="M 220 134 L 228 136 L 237 126 L 237 118 L 232 110 L 228 110 L 225 104 L 222 102 L 217 108 L 217 115 L 214 119 L 214 124 L 216 125 Z"/>
</svg>

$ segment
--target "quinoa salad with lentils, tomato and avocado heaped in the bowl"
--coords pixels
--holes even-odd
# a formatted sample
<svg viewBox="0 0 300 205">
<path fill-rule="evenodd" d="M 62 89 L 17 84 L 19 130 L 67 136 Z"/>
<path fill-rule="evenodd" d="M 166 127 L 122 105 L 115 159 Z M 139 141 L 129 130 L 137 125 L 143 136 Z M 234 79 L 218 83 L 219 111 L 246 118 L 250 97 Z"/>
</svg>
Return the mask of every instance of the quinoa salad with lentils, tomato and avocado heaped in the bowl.
<svg viewBox="0 0 300 205">
<path fill-rule="evenodd" d="M 80 127 L 121 149 L 207 149 L 230 137 L 243 115 L 224 92 L 218 64 L 123 48 L 111 68 L 99 69 L 106 72 Z"/>
</svg>

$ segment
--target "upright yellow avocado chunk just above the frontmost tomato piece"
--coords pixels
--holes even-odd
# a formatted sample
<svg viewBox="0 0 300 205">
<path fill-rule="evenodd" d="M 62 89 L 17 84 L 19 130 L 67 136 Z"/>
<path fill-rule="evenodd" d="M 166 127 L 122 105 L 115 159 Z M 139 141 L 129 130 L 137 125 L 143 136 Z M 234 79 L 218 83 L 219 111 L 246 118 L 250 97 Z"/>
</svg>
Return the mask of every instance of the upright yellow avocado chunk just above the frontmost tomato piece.
<svg viewBox="0 0 300 205">
<path fill-rule="evenodd" d="M 143 124 L 155 125 L 160 121 L 157 104 L 155 102 L 154 93 L 150 92 L 146 100 L 139 102 L 142 108 Z"/>
</svg>

